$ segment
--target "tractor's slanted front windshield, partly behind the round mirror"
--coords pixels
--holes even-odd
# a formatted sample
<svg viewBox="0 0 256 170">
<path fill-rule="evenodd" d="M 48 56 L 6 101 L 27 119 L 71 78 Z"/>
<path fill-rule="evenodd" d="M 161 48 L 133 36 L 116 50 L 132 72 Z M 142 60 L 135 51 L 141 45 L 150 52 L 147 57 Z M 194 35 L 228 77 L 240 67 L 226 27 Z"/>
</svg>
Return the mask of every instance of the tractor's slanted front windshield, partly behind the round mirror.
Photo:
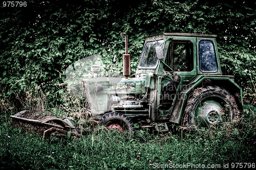
<svg viewBox="0 0 256 170">
<path fill-rule="evenodd" d="M 156 57 L 156 46 L 160 45 L 163 40 L 147 42 L 141 53 L 138 68 L 139 69 L 155 69 L 158 65 L 158 59 Z"/>
</svg>

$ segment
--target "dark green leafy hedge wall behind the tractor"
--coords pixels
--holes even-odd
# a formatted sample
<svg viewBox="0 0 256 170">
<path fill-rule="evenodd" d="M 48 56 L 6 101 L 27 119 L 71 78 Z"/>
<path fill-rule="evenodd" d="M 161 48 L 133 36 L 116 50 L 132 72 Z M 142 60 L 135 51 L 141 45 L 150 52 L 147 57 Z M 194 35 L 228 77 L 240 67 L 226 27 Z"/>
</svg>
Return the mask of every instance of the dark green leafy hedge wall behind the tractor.
<svg viewBox="0 0 256 170">
<path fill-rule="evenodd" d="M 24 95 L 24 89 L 33 85 L 43 88 L 52 106 L 60 104 L 61 92 L 54 85 L 65 82 L 65 70 L 75 61 L 99 54 L 106 71 L 122 72 L 120 32 L 129 34 L 133 72 L 146 35 L 186 32 L 218 35 L 223 73 L 235 75 L 245 89 L 244 102 L 255 105 L 253 5 L 249 1 L 133 0 L 123 5 L 117 0 L 69 4 L 31 0 L 23 8 L 1 6 L 1 98 Z"/>
</svg>

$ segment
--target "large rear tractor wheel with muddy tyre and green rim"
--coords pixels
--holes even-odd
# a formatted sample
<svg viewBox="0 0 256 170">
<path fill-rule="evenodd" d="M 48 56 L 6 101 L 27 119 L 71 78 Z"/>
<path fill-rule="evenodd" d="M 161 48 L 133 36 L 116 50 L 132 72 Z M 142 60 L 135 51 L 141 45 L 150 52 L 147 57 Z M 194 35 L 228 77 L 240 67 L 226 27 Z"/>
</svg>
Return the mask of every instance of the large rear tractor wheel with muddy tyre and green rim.
<svg viewBox="0 0 256 170">
<path fill-rule="evenodd" d="M 239 116 L 240 111 L 234 96 L 218 86 L 198 88 L 188 99 L 184 113 L 184 126 L 207 126 L 219 121 L 228 121 Z"/>
</svg>

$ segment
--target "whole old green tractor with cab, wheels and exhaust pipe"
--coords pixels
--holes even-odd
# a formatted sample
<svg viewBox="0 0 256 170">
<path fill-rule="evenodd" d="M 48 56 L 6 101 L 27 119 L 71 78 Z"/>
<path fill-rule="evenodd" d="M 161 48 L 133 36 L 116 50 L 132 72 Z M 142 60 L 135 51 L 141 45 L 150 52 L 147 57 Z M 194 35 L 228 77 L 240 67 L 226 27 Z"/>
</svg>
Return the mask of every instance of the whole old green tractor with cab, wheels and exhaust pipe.
<svg viewBox="0 0 256 170">
<path fill-rule="evenodd" d="M 135 77 L 130 78 L 128 37 L 124 78 L 83 79 L 93 117 L 108 129 L 134 133 L 141 128 L 168 131 L 169 125 L 207 126 L 241 116 L 242 89 L 222 75 L 216 35 L 160 33 L 145 38 Z M 160 128 L 161 127 L 161 128 Z"/>
</svg>

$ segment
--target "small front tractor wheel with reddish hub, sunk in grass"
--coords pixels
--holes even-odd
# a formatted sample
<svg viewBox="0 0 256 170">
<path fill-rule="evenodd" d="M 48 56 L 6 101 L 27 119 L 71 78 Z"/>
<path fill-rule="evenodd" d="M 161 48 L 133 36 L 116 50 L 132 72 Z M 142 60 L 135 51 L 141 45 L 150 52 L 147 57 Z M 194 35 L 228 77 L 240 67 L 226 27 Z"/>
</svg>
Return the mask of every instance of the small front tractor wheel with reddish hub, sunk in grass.
<svg viewBox="0 0 256 170">
<path fill-rule="evenodd" d="M 106 113 L 99 119 L 99 124 L 106 126 L 107 129 L 117 129 L 120 132 L 127 131 L 134 135 L 135 129 L 132 120 L 125 114 L 118 112 Z"/>
</svg>

